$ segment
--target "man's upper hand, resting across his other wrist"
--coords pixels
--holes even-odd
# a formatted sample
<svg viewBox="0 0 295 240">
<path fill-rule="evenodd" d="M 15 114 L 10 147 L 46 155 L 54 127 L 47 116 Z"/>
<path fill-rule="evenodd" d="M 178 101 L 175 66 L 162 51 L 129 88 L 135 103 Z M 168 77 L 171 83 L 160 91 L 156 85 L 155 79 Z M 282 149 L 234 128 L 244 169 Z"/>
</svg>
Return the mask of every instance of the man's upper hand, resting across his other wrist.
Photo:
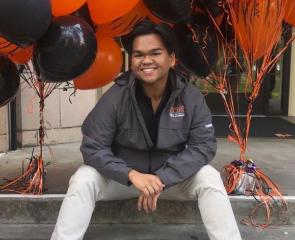
<svg viewBox="0 0 295 240">
<path fill-rule="evenodd" d="M 146 197 L 152 197 L 156 194 L 159 194 L 165 187 L 165 185 L 162 184 L 159 176 L 140 173 L 134 169 L 129 172 L 128 179 Z"/>
</svg>

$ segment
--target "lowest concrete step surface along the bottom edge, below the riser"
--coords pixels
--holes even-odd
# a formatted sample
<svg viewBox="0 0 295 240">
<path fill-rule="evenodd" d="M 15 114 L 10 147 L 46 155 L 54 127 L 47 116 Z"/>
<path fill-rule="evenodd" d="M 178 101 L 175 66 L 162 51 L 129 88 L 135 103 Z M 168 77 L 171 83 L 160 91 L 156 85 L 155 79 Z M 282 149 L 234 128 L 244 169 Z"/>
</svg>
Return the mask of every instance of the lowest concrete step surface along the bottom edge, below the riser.
<svg viewBox="0 0 295 240">
<path fill-rule="evenodd" d="M 294 226 L 255 230 L 239 225 L 243 240 L 294 240 Z M 54 225 L 0 225 L 0 240 L 50 239 Z M 203 225 L 99 224 L 90 225 L 84 240 L 209 240 Z"/>
</svg>

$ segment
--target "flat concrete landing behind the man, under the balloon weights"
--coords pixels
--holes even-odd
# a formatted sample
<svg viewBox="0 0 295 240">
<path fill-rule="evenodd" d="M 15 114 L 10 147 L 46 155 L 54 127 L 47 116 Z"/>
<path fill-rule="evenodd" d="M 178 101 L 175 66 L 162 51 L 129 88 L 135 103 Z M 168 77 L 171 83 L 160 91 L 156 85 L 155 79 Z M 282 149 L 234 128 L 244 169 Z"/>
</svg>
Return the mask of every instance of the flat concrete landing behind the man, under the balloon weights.
<svg viewBox="0 0 295 240">
<path fill-rule="evenodd" d="M 231 161 L 239 158 L 239 148 L 236 143 L 226 138 L 218 138 L 218 151 L 211 165 L 220 170 Z M 47 169 L 47 182 L 44 194 L 64 194 L 68 188 L 70 176 L 83 164 L 79 151 L 80 142 L 51 145 L 54 160 L 48 148 L 43 147 L 44 164 L 51 162 Z M 252 158 L 272 181 L 281 185 L 285 196 L 295 196 L 295 139 L 257 139 L 250 138 L 246 158 Z M 23 159 L 30 158 L 33 147 L 21 148 L 15 152 L 0 157 L 0 183 L 2 178 L 13 179 L 22 174 Z M 35 148 L 38 154 L 38 147 Z M 25 169 L 29 161 L 24 161 Z"/>
</svg>

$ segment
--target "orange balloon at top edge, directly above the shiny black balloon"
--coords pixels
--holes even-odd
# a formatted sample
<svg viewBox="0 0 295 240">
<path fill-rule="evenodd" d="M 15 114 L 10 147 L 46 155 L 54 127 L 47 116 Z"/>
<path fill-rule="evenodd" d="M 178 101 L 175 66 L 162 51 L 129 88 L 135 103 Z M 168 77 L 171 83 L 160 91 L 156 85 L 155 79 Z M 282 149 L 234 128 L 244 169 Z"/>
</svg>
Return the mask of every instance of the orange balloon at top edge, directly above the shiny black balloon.
<svg viewBox="0 0 295 240">
<path fill-rule="evenodd" d="M 52 15 L 55 17 L 68 15 L 81 8 L 86 0 L 51 0 Z"/>
</svg>

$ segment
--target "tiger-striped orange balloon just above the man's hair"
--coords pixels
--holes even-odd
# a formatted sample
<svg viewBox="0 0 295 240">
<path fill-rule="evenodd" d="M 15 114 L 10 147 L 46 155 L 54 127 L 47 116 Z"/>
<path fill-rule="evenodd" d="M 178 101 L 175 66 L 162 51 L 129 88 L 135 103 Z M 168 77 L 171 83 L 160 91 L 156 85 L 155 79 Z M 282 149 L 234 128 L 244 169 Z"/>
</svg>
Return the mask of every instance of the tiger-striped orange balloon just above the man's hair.
<svg viewBox="0 0 295 240">
<path fill-rule="evenodd" d="M 97 25 L 97 34 L 100 36 L 114 37 L 122 36 L 131 32 L 133 26 L 144 20 L 147 16 L 147 8 L 140 1 L 135 8 L 126 13 L 124 16 L 114 21 Z"/>
</svg>

